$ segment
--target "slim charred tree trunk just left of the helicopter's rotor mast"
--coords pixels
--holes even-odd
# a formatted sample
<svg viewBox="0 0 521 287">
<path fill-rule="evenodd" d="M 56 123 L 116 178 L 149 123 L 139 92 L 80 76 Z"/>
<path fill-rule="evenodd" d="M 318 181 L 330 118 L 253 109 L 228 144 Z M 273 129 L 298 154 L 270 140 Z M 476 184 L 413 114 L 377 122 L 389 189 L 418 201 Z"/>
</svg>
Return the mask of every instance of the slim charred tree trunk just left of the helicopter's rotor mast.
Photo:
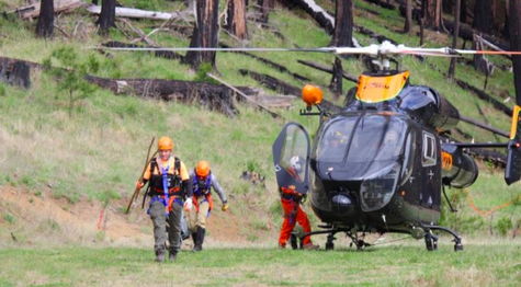
<svg viewBox="0 0 521 287">
<path fill-rule="evenodd" d="M 351 0 L 336 1 L 335 31 L 331 46 L 353 46 L 353 3 Z M 329 85 L 336 96 L 342 93 L 342 61 L 337 57 L 335 59 L 333 74 Z"/>
</svg>

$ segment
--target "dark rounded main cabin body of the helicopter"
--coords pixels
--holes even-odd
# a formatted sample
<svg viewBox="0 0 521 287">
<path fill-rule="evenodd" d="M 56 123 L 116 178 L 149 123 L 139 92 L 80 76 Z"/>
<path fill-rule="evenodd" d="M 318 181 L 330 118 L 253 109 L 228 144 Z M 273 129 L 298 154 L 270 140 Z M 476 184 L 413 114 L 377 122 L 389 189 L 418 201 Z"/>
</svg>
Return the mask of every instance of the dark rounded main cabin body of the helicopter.
<svg viewBox="0 0 521 287">
<path fill-rule="evenodd" d="M 322 123 L 310 154 L 310 204 L 325 222 L 367 231 L 437 223 L 440 140 L 408 115 L 347 112 Z"/>
</svg>

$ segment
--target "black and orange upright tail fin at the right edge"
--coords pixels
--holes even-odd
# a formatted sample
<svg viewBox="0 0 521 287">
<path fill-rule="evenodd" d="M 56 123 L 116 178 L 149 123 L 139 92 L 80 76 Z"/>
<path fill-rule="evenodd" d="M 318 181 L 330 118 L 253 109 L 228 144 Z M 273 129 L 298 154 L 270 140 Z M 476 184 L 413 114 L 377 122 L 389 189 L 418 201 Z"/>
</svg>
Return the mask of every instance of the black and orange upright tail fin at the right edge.
<svg viewBox="0 0 521 287">
<path fill-rule="evenodd" d="M 508 144 L 505 181 L 508 185 L 521 179 L 521 106 L 517 105 L 512 114 L 512 127 Z"/>
</svg>

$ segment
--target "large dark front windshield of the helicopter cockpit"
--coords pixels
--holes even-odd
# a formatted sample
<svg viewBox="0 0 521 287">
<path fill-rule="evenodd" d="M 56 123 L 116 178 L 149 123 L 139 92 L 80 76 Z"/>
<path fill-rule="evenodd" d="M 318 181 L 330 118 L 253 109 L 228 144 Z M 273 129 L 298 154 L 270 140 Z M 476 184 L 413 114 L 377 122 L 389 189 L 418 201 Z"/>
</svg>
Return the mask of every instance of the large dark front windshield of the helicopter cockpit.
<svg viewBox="0 0 521 287">
<path fill-rule="evenodd" d="M 325 124 L 316 160 L 333 167 L 346 180 L 367 179 L 397 162 L 406 130 L 399 116 L 338 116 Z"/>
</svg>

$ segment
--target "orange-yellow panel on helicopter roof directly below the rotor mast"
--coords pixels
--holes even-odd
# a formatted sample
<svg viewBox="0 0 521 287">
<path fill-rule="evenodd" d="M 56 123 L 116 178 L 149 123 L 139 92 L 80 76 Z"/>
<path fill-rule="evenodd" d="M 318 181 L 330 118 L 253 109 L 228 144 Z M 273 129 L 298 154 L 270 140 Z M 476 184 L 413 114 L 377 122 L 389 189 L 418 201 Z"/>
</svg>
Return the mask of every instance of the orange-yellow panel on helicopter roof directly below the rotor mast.
<svg viewBox="0 0 521 287">
<path fill-rule="evenodd" d="M 356 100 L 366 103 L 378 103 L 398 95 L 409 79 L 409 71 L 390 76 L 361 74 L 356 89 Z"/>
</svg>

